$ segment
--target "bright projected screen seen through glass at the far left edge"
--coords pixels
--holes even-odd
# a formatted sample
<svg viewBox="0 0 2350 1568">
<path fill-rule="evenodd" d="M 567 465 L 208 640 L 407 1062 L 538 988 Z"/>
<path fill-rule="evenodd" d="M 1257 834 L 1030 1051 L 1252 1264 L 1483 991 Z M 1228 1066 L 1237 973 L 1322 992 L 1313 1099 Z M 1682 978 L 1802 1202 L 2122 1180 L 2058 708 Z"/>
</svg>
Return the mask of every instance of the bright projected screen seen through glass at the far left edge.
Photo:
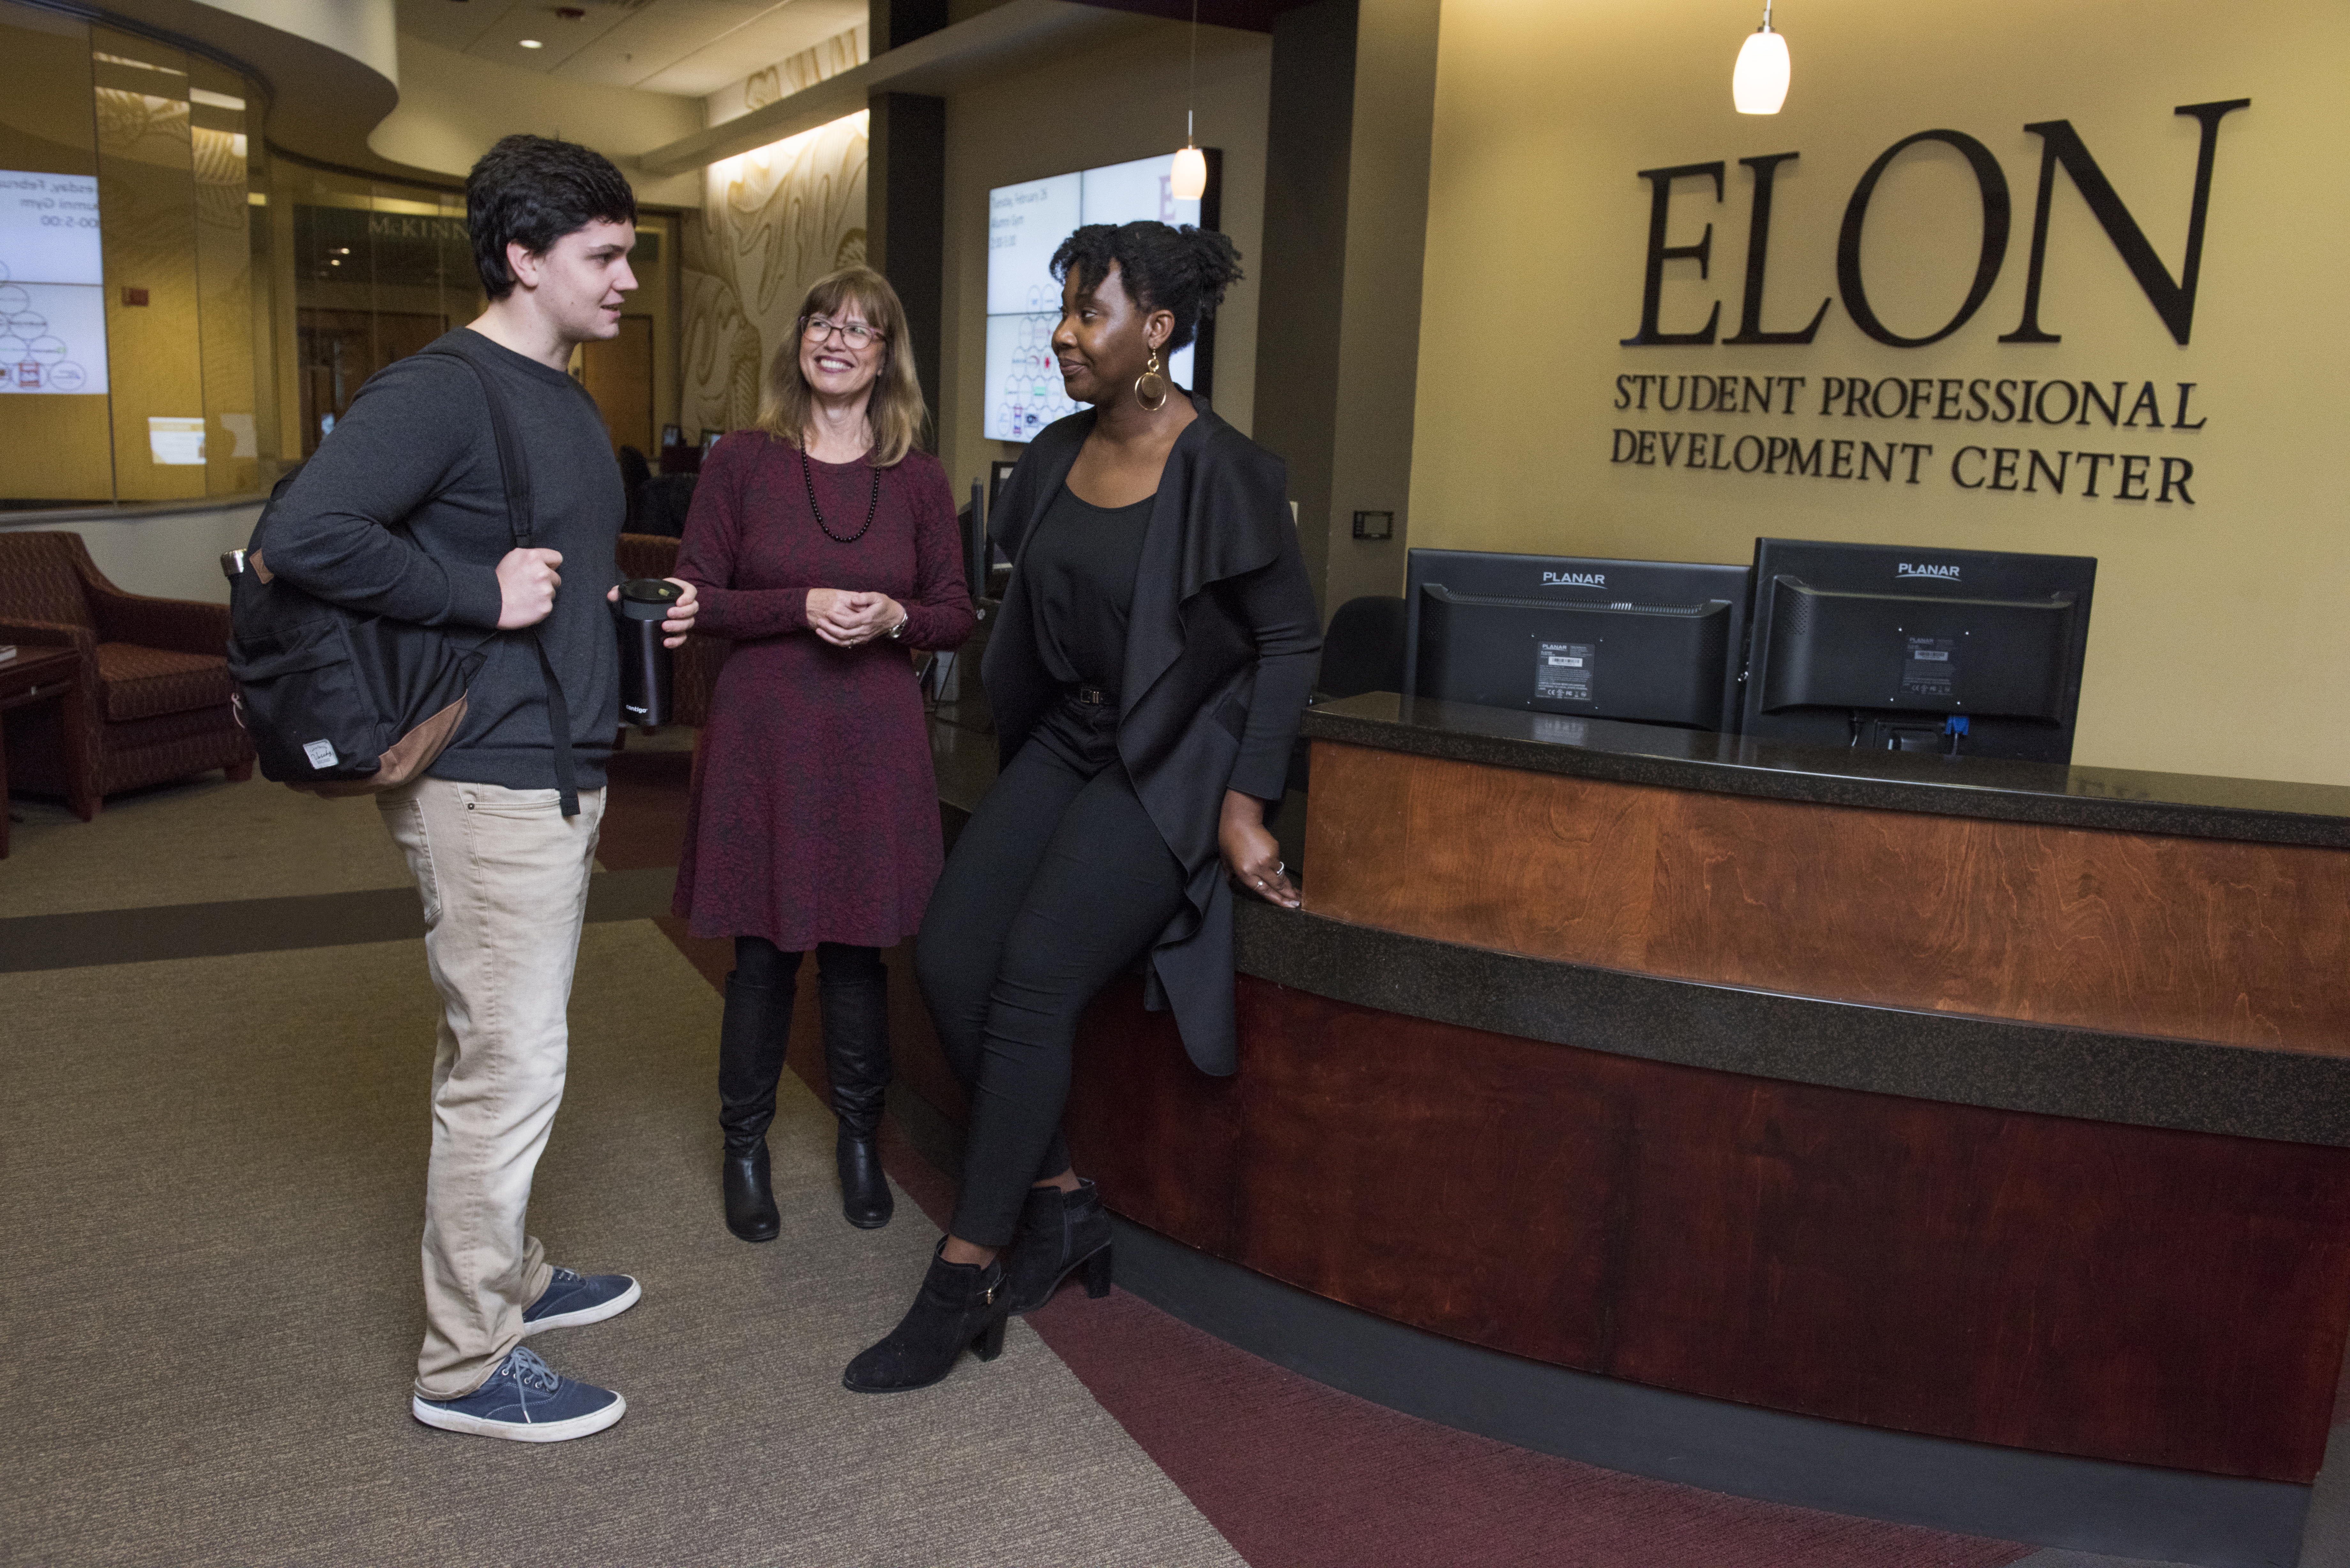
<svg viewBox="0 0 2350 1568">
<path fill-rule="evenodd" d="M 0 169 L 0 393 L 106 393 L 99 181 Z"/>
</svg>

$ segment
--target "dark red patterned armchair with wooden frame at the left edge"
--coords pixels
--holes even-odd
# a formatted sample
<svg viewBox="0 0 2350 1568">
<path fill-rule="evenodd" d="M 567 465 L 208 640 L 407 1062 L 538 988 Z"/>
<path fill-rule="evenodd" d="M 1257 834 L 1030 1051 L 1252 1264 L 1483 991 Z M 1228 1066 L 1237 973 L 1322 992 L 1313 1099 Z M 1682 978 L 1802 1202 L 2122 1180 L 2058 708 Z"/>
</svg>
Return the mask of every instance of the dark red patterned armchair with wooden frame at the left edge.
<svg viewBox="0 0 2350 1568">
<path fill-rule="evenodd" d="M 122 592 L 78 534 L 0 531 L 0 642 L 70 646 L 82 724 L 24 710 L 7 726 L 14 788 L 63 795 L 92 818 L 120 790 L 226 769 L 251 778 L 254 748 L 228 682 L 228 607 Z M 68 748 L 80 731 L 82 743 Z"/>
</svg>

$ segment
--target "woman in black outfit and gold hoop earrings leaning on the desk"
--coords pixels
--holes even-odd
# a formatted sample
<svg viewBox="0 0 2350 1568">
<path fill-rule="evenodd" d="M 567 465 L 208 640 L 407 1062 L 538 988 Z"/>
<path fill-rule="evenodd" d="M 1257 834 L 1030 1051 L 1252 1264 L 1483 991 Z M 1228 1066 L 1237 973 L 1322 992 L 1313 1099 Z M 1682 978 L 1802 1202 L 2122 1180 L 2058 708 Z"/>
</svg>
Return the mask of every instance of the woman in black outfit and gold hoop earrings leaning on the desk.
<svg viewBox="0 0 2350 1568">
<path fill-rule="evenodd" d="M 1109 1215 L 1060 1135 L 1076 1020 L 1147 950 L 1152 1006 L 1203 1072 L 1234 1072 L 1227 875 L 1297 907 L 1264 827 L 1321 649 L 1288 473 L 1161 374 L 1236 263 L 1166 223 L 1093 223 L 1053 256 L 1053 353 L 1093 411 L 1039 433 L 996 501 L 1003 773 L 914 947 L 971 1091 L 964 1190 L 914 1307 L 848 1363 L 855 1392 L 928 1387 L 966 1345 L 994 1359 L 1006 1316 L 1079 1265 L 1109 1291 Z"/>
</svg>

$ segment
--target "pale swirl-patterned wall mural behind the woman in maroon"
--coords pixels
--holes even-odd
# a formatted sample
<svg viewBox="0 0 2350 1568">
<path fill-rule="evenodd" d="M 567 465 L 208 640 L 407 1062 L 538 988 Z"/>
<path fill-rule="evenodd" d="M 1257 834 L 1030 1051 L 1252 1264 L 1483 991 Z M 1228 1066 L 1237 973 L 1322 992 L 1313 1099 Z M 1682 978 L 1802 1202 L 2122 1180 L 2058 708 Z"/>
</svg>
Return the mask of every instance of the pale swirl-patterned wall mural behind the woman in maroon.
<svg viewBox="0 0 2350 1568">
<path fill-rule="evenodd" d="M 855 28 L 717 96 L 757 108 L 783 85 L 806 87 L 855 66 L 862 52 Z M 703 209 L 682 223 L 679 421 L 689 433 L 747 425 L 766 362 L 792 336 L 799 296 L 825 273 L 865 261 L 865 115 L 855 113 L 705 172 Z"/>
</svg>

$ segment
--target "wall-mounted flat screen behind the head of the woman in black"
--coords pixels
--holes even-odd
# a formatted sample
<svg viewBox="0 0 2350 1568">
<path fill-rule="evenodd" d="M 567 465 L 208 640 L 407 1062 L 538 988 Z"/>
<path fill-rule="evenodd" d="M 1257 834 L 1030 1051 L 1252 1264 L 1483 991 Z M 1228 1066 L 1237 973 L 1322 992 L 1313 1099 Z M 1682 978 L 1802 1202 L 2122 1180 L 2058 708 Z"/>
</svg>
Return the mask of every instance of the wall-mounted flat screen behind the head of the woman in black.
<svg viewBox="0 0 2350 1568">
<path fill-rule="evenodd" d="M 1213 167 L 1213 162 L 1210 162 Z M 987 409 L 982 435 L 1027 442 L 1076 414 L 1060 390 L 1053 327 L 1060 284 L 1053 252 L 1081 223 L 1201 223 L 1206 202 L 1177 202 L 1175 155 L 1137 158 L 987 193 Z M 1194 386 L 1194 346 L 1168 355 L 1168 378 Z"/>
</svg>

